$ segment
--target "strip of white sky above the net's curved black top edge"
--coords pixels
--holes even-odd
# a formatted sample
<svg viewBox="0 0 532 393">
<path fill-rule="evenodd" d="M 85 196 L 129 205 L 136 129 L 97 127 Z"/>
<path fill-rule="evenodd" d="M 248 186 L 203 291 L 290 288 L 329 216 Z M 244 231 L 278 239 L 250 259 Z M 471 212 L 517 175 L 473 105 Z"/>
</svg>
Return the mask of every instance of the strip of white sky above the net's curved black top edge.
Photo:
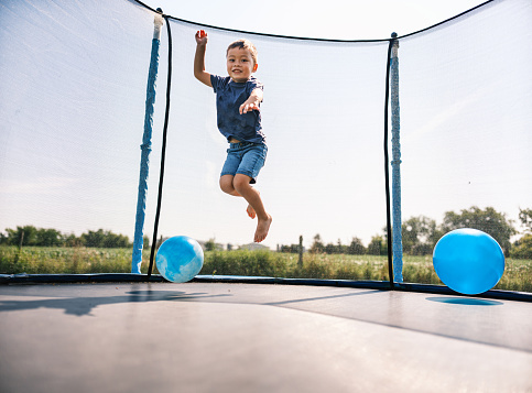
<svg viewBox="0 0 532 393">
<path fill-rule="evenodd" d="M 333 40 L 388 39 L 428 28 L 467 11 L 480 0 L 372 0 L 305 1 L 270 0 L 250 7 L 228 7 L 227 2 L 149 0 L 180 19 L 221 28 L 279 35 Z"/>
</svg>

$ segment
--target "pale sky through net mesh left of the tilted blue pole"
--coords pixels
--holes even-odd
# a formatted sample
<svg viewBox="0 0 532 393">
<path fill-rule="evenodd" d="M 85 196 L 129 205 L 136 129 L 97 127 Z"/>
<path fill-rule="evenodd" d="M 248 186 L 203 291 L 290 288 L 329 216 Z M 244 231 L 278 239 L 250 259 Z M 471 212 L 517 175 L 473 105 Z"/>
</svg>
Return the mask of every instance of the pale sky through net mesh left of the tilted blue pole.
<svg viewBox="0 0 532 393">
<path fill-rule="evenodd" d="M 130 233 L 152 13 L 124 1 L 1 8 L 2 230 Z"/>
</svg>

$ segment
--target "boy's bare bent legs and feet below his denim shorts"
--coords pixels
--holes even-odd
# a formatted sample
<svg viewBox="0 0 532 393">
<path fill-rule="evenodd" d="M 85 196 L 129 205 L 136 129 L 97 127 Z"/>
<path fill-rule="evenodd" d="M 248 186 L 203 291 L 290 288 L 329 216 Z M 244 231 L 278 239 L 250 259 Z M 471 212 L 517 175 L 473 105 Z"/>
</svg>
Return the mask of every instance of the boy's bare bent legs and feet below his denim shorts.
<svg viewBox="0 0 532 393">
<path fill-rule="evenodd" d="M 220 177 L 220 187 L 225 193 L 234 196 L 241 196 L 248 201 L 248 215 L 250 215 L 250 211 L 254 211 L 256 217 L 258 218 L 254 241 L 260 243 L 268 236 L 268 231 L 272 223 L 272 217 L 265 211 L 260 194 L 257 189 L 251 187 L 249 184 L 250 181 L 251 177 L 242 174 L 237 174 L 234 178 L 230 175 L 224 175 Z M 251 207 L 252 210 L 249 209 L 249 207 Z"/>
</svg>

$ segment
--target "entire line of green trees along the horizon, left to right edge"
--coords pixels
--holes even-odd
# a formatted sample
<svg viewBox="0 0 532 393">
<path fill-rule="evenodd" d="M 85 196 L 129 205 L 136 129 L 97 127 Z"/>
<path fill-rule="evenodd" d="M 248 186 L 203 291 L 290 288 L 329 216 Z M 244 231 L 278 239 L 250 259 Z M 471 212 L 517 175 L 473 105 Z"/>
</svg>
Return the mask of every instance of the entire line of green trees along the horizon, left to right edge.
<svg viewBox="0 0 532 393">
<path fill-rule="evenodd" d="M 519 220 L 524 228 L 522 232 L 515 229 L 514 221 L 508 219 L 504 214 L 492 207 L 480 209 L 476 206 L 459 212 L 445 212 L 443 222 L 439 225 L 425 216 L 411 217 L 402 222 L 403 252 L 406 255 L 432 254 L 434 245 L 445 233 L 458 228 L 475 228 L 493 237 L 501 245 L 506 256 L 532 259 L 532 209 L 520 209 Z M 519 233 L 521 237 L 511 242 L 511 238 Z M 127 236 L 104 229 L 89 230 L 76 237 L 73 233 L 62 233 L 56 229 L 35 228 L 34 226 L 6 229 L 6 232 L 0 232 L 0 244 L 94 248 L 131 248 L 133 245 Z M 144 248 L 149 247 L 149 238 L 144 236 Z M 278 250 L 297 253 L 300 244 L 280 245 Z M 337 243 L 325 244 L 321 236 L 316 234 L 308 251 L 327 254 L 386 255 L 388 252 L 386 228 L 383 234 L 373 236 L 367 247 L 356 237 L 349 244 L 343 244 L 340 240 Z"/>
</svg>

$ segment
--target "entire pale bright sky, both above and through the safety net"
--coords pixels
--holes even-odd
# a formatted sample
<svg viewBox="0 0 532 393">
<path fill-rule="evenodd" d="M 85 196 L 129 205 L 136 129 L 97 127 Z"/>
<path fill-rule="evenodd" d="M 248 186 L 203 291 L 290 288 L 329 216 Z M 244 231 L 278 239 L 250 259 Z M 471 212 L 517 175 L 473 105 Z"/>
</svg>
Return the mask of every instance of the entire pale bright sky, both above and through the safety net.
<svg viewBox="0 0 532 393">
<path fill-rule="evenodd" d="M 481 3 L 273 0 L 229 8 L 220 1 L 145 2 L 196 23 L 332 40 L 401 36 Z M 441 222 L 444 211 L 468 208 L 471 200 L 495 205 L 512 219 L 520 206 L 532 206 L 525 171 L 532 86 L 522 78 L 532 55 L 512 35 L 532 20 L 530 6 L 520 9 L 523 3 L 502 2 L 471 26 L 456 23 L 436 29 L 430 39 L 401 41 L 403 219 L 423 214 Z M 470 54 L 476 42 L 487 42 L 482 23 L 499 18 L 493 10 L 501 19 L 508 12 L 518 30 L 488 24 L 499 40 Z M 242 200 L 218 187 L 226 141 L 216 129 L 214 95 L 191 73 L 197 26 L 172 28 L 172 110 L 159 234 L 249 243 L 254 221 Z M 208 70 L 224 74 L 225 48 L 235 34 L 206 30 Z M 0 3 L 0 75 L 10 76 L 0 81 L 0 230 L 34 225 L 79 236 L 102 228 L 132 239 L 152 33 L 151 12 L 129 1 Z M 326 243 L 348 244 L 359 237 L 368 244 L 386 223 L 381 131 L 388 43 L 251 37 L 259 47 L 257 77 L 265 85 L 261 110 L 269 144 L 258 187 L 274 216 L 263 243 L 275 249 L 302 234 L 310 247 L 319 233 Z M 150 238 L 166 50 L 163 34 L 144 223 Z M 344 85 L 358 94 L 355 106 L 351 91 L 337 87 Z M 503 154 L 493 153 L 493 146 Z"/>
</svg>

